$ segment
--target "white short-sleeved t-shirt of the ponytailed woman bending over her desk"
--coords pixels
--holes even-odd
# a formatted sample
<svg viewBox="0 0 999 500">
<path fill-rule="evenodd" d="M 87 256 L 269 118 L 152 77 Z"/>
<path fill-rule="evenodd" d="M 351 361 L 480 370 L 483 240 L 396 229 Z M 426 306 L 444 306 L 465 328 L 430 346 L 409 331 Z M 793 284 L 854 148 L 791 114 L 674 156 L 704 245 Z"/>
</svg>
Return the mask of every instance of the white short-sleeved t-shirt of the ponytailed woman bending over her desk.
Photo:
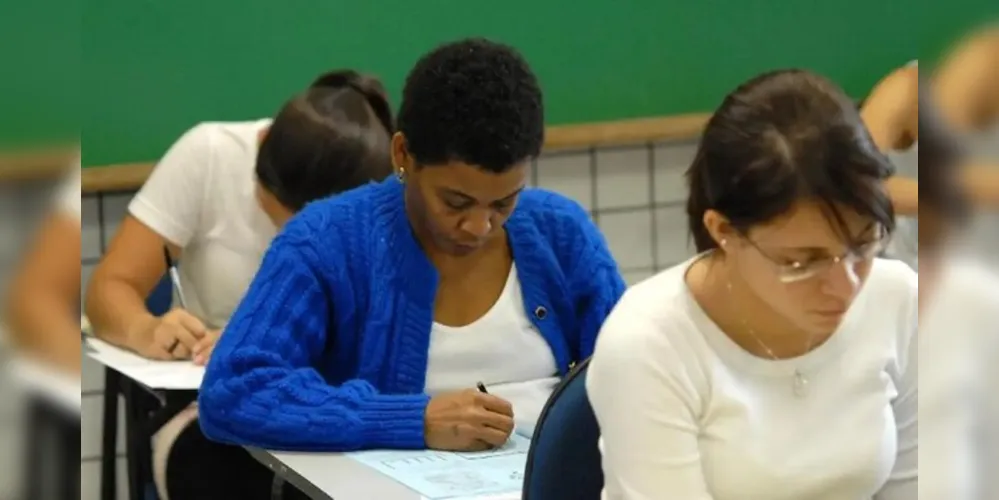
<svg viewBox="0 0 999 500">
<path fill-rule="evenodd" d="M 213 328 L 229 320 L 277 234 L 255 195 L 258 137 L 269 123 L 195 126 L 128 207 L 183 249 L 178 271 L 187 308 Z"/>
</svg>

